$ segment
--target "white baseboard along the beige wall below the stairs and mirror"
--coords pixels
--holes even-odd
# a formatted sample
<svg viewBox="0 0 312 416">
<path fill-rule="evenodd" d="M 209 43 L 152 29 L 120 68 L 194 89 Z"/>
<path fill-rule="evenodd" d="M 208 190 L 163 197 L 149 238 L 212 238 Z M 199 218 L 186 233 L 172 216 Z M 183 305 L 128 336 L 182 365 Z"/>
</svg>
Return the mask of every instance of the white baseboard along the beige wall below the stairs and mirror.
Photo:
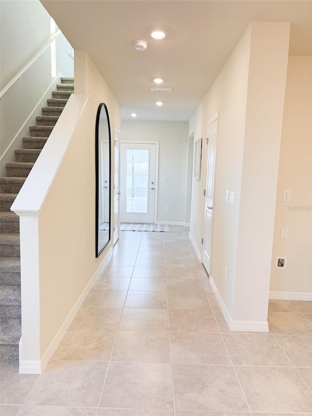
<svg viewBox="0 0 312 416">
<path fill-rule="evenodd" d="M 90 289 L 92 288 L 93 284 L 95 283 L 98 275 L 102 271 L 103 267 L 105 266 L 108 258 L 110 257 L 110 254 L 113 250 L 113 247 L 111 247 L 108 252 L 106 253 L 105 257 L 101 261 L 100 265 L 98 266 L 98 269 L 96 270 L 93 277 L 90 279 L 87 286 L 84 288 L 83 292 L 79 296 L 77 302 L 75 303 L 73 309 L 70 311 L 68 317 L 65 319 L 63 325 L 60 327 L 59 332 L 54 337 L 53 341 L 43 354 L 40 360 L 37 361 L 29 361 L 29 360 L 22 360 L 20 359 L 20 368 L 19 373 L 20 374 L 40 374 L 43 372 L 44 368 L 48 364 L 50 358 L 53 356 L 55 350 L 57 349 L 62 337 L 64 336 L 65 332 L 67 331 L 69 325 L 71 324 L 72 320 L 74 319 L 75 315 L 78 312 L 78 309 L 82 305 L 82 302 L 84 301 L 85 297 L 90 292 Z M 21 347 L 22 339 L 20 339 L 20 347 Z M 22 349 L 20 348 L 20 351 Z"/>
</svg>

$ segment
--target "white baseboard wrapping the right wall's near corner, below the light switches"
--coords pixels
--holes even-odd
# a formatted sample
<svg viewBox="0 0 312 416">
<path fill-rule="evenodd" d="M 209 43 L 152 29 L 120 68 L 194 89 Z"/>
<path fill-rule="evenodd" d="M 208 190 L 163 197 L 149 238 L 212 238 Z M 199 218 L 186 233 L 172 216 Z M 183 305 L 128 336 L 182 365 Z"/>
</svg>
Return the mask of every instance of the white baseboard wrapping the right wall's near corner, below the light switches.
<svg viewBox="0 0 312 416">
<path fill-rule="evenodd" d="M 235 321 L 232 319 L 223 299 L 215 285 L 214 279 L 210 276 L 209 281 L 213 288 L 215 297 L 221 308 L 222 314 L 231 331 L 253 331 L 253 332 L 268 332 L 269 324 L 267 321 Z"/>
</svg>

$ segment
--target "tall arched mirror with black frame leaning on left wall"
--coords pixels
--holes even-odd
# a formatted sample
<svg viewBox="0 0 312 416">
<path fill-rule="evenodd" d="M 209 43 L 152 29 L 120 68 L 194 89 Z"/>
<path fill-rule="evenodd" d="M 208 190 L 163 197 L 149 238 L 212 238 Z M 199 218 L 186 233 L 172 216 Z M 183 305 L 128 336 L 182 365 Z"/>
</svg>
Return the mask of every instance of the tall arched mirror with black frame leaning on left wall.
<svg viewBox="0 0 312 416">
<path fill-rule="evenodd" d="M 101 103 L 96 121 L 96 257 L 111 239 L 111 158 L 109 116 Z"/>
</svg>

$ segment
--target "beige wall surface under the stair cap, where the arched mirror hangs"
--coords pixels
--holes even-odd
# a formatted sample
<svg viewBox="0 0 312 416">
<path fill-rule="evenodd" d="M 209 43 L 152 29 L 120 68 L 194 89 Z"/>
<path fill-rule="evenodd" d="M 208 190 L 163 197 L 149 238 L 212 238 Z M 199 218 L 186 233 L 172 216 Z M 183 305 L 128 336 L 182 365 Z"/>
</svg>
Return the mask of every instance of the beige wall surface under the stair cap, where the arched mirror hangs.
<svg viewBox="0 0 312 416">
<path fill-rule="evenodd" d="M 41 357 L 112 246 L 95 258 L 95 123 L 105 102 L 120 128 L 120 107 L 83 51 L 75 51 L 75 93 L 89 99 L 39 216 Z"/>
</svg>

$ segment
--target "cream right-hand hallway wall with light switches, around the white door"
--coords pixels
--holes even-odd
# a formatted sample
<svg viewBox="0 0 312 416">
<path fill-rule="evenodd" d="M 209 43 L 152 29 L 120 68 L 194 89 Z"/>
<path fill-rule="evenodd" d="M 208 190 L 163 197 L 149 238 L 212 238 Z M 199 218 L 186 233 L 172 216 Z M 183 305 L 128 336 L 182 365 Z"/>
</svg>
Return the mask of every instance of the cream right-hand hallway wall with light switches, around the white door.
<svg viewBox="0 0 312 416">
<path fill-rule="evenodd" d="M 189 125 L 195 141 L 206 137 L 207 122 L 219 111 L 211 277 L 232 329 L 242 322 L 267 328 L 289 30 L 287 23 L 252 22 Z M 203 150 L 190 231 L 199 251 L 206 162 Z M 227 189 L 235 192 L 234 206 L 225 202 Z"/>
</svg>

